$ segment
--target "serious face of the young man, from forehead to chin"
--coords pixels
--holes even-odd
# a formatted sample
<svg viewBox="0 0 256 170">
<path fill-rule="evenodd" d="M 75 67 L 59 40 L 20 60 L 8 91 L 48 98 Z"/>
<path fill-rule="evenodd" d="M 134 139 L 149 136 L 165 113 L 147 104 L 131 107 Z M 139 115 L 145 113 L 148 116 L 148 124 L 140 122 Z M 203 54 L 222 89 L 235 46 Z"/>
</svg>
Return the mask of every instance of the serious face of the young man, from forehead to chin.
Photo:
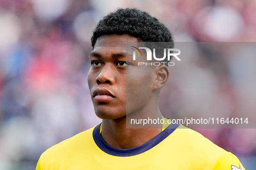
<svg viewBox="0 0 256 170">
<path fill-rule="evenodd" d="M 126 56 L 126 42 L 137 42 L 137 38 L 101 36 L 89 56 L 88 85 L 95 113 L 101 119 L 126 116 L 145 107 L 150 99 L 153 69 L 138 66 L 144 58 L 134 61 L 132 53 Z"/>
</svg>

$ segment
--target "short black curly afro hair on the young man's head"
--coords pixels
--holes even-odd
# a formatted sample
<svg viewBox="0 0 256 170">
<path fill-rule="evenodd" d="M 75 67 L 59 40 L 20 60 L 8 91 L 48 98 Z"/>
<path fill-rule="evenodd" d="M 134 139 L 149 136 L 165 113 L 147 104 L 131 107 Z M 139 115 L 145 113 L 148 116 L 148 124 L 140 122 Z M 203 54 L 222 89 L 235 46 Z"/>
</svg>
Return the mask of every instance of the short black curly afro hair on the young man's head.
<svg viewBox="0 0 256 170">
<path fill-rule="evenodd" d="M 93 31 L 92 47 L 103 35 L 130 35 L 143 42 L 174 42 L 172 33 L 165 25 L 136 8 L 119 8 L 104 16 Z"/>
</svg>

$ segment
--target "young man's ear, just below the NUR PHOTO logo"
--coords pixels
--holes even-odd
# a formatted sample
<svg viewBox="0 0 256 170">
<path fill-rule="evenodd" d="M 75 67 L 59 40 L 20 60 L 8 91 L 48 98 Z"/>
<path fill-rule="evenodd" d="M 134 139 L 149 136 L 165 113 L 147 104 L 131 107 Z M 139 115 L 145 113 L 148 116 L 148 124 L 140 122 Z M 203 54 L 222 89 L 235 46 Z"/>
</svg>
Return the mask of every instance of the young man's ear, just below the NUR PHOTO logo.
<svg viewBox="0 0 256 170">
<path fill-rule="evenodd" d="M 154 82 L 153 90 L 160 89 L 165 86 L 169 79 L 169 69 L 167 66 L 157 66 L 155 68 L 156 79 Z"/>
</svg>

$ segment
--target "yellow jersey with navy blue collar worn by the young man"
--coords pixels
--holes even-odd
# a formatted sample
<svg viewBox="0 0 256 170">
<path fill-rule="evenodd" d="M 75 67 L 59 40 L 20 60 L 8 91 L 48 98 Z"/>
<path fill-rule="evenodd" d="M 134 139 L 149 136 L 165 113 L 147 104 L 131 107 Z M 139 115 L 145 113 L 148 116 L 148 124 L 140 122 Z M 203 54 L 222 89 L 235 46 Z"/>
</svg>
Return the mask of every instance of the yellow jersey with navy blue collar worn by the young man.
<svg viewBox="0 0 256 170">
<path fill-rule="evenodd" d="M 179 124 L 135 148 L 107 145 L 100 124 L 46 150 L 36 170 L 244 170 L 238 158 Z"/>
</svg>

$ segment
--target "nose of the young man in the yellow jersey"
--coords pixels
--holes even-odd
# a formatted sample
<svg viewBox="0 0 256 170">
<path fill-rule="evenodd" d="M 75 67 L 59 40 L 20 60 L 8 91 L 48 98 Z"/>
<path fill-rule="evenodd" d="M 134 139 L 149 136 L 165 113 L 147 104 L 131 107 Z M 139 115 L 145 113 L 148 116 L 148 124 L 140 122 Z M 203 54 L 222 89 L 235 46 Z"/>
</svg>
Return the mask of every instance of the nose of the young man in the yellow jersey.
<svg viewBox="0 0 256 170">
<path fill-rule="evenodd" d="M 115 82 L 114 76 L 114 68 L 109 64 L 106 64 L 102 67 L 100 74 L 96 78 L 97 84 L 109 83 L 110 85 L 113 85 Z"/>
</svg>

